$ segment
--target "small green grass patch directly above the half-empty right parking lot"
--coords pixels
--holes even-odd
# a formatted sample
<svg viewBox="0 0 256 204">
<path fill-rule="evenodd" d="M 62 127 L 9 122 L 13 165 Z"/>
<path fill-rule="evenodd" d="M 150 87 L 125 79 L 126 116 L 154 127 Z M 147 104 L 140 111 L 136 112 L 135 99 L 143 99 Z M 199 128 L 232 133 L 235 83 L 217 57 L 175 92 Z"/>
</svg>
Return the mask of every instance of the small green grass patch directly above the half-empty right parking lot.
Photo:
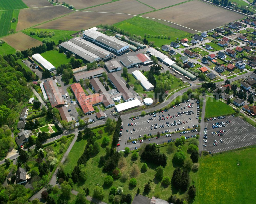
<svg viewBox="0 0 256 204">
<path fill-rule="evenodd" d="M 234 110 L 226 103 L 212 97 L 206 98 L 205 118 L 230 115 L 232 113 L 234 113 Z"/>
</svg>

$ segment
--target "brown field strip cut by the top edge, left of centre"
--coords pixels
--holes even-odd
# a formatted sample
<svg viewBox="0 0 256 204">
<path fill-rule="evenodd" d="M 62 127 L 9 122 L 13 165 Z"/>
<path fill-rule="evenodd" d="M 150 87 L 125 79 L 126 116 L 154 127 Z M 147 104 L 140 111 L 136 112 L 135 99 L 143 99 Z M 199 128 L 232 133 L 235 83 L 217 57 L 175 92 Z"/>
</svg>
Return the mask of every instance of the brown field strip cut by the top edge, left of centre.
<svg viewBox="0 0 256 204">
<path fill-rule="evenodd" d="M 62 1 L 61 1 L 62 2 Z M 66 0 L 67 4 L 71 4 L 75 9 L 84 9 L 91 6 L 112 2 L 111 0 Z"/>
</svg>

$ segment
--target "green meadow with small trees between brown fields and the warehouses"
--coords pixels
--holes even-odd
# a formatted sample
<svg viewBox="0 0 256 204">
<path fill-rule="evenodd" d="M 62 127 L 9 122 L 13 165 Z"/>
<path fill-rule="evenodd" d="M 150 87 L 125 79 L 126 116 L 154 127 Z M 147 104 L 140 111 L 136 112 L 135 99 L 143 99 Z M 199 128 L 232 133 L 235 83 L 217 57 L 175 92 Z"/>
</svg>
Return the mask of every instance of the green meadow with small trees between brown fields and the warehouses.
<svg viewBox="0 0 256 204">
<path fill-rule="evenodd" d="M 30 31 L 34 31 L 36 34 L 29 35 Z M 69 40 L 69 39 L 73 38 L 70 35 L 77 32 L 77 31 L 70 31 L 70 30 L 54 30 L 54 29 L 38 29 L 38 28 L 28 28 L 26 30 L 23 30 L 22 32 L 25 33 L 26 35 L 29 35 L 32 38 L 42 41 L 42 40 L 44 40 L 44 38 L 40 38 L 37 36 L 37 32 L 40 33 L 41 31 L 42 32 L 44 32 L 44 31 L 55 32 L 55 35 L 52 36 L 51 39 L 54 40 L 56 45 L 59 44 L 59 40 L 66 41 L 67 39 Z"/>
</svg>

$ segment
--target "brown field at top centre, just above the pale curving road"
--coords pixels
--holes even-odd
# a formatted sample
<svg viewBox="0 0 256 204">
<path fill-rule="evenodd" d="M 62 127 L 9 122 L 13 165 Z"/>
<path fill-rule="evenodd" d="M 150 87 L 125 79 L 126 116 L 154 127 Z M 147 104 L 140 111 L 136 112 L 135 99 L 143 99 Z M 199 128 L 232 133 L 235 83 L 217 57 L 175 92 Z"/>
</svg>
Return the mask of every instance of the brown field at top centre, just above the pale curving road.
<svg viewBox="0 0 256 204">
<path fill-rule="evenodd" d="M 114 12 L 114 13 L 124 13 L 124 14 L 142 14 L 154 9 L 137 2 L 136 0 L 120 0 L 113 3 L 105 4 L 102 6 L 96 6 L 87 11 L 101 11 L 101 12 Z"/>
</svg>

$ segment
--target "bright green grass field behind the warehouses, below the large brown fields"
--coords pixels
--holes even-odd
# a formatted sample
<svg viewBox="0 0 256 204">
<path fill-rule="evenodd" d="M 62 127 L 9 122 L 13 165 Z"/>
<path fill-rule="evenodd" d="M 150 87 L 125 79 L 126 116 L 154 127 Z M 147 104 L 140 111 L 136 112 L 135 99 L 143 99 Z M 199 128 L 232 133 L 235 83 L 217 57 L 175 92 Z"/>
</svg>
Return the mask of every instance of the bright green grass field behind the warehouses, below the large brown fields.
<svg viewBox="0 0 256 204">
<path fill-rule="evenodd" d="M 140 35 L 142 38 L 144 38 L 145 33 L 150 34 L 151 37 L 147 38 L 148 42 L 154 41 L 155 45 L 157 46 L 169 44 L 170 42 L 175 41 L 177 37 L 183 39 L 188 38 L 191 35 L 188 32 L 171 28 L 161 23 L 140 17 L 133 17 L 131 19 L 116 23 L 114 26 L 120 28 L 121 30 L 130 32 L 131 34 Z M 170 36 L 171 39 L 155 38 L 155 35 L 166 35 L 167 37 Z"/>
</svg>

